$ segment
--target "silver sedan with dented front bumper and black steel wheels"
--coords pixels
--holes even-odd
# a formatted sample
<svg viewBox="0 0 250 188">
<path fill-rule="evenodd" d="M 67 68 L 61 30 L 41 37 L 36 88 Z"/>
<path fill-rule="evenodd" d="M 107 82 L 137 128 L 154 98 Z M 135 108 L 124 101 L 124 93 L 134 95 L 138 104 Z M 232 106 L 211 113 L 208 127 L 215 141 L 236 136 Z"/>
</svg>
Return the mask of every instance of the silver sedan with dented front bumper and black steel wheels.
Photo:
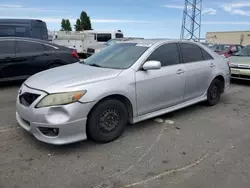
<svg viewBox="0 0 250 188">
<path fill-rule="evenodd" d="M 18 93 L 16 119 L 50 144 L 110 142 L 128 122 L 201 101 L 215 105 L 229 83 L 226 59 L 199 43 L 129 41 L 29 78 Z"/>
</svg>

